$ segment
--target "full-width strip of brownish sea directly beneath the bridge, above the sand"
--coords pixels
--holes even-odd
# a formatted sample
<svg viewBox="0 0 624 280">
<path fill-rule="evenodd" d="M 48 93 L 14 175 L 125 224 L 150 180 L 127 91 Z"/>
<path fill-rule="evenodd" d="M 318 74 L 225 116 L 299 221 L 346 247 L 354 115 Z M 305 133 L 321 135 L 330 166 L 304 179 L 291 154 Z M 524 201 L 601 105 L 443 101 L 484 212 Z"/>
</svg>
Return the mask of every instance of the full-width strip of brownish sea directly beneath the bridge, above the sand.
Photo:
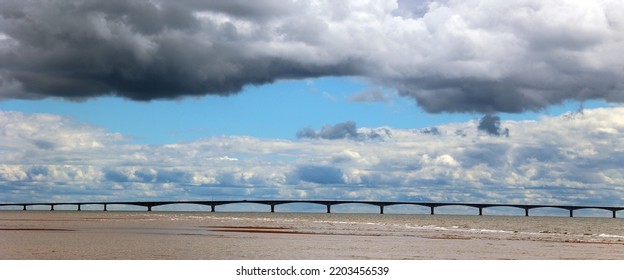
<svg viewBox="0 0 624 280">
<path fill-rule="evenodd" d="M 0 225 L 18 222 L 75 226 L 77 222 L 106 224 L 147 222 L 154 228 L 197 225 L 283 227 L 292 231 L 354 235 L 417 235 L 426 233 L 526 235 L 534 237 L 624 240 L 624 219 L 594 217 L 524 217 L 410 214 L 325 214 L 261 212 L 145 212 L 145 211 L 0 211 Z M 74 222 L 74 223 L 71 223 Z M 91 223 L 93 224 L 93 223 Z"/>
</svg>

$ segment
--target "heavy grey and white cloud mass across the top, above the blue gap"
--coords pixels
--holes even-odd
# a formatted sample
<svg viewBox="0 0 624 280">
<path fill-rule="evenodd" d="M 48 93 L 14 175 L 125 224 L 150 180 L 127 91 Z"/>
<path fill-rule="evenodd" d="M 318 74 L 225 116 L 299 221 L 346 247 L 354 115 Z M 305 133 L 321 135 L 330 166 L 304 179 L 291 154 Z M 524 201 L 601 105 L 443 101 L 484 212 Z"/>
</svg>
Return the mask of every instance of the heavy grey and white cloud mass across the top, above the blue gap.
<svg viewBox="0 0 624 280">
<path fill-rule="evenodd" d="M 7 0 L 0 98 L 174 99 L 348 75 L 428 112 L 622 102 L 623 12 L 616 0 Z"/>
</svg>

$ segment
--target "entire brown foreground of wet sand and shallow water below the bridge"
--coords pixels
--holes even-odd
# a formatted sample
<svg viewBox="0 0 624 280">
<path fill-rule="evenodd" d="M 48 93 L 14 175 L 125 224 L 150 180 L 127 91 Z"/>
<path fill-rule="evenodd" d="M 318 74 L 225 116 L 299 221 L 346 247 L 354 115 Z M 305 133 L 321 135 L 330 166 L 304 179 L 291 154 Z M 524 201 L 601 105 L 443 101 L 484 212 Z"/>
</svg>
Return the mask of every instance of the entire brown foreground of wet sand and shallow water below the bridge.
<svg viewBox="0 0 624 280">
<path fill-rule="evenodd" d="M 624 259 L 612 218 L 0 211 L 0 259 Z"/>
</svg>

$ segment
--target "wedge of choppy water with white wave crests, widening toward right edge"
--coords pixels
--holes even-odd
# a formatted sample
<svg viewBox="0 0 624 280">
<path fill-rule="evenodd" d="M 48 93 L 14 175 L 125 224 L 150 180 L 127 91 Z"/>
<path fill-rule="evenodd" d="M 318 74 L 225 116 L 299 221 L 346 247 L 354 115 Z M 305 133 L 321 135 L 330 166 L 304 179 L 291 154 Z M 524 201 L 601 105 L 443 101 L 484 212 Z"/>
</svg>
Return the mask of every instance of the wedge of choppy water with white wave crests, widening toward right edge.
<svg viewBox="0 0 624 280">
<path fill-rule="evenodd" d="M 163 214 L 167 219 L 169 215 Z M 562 238 L 595 238 L 624 241 L 624 219 L 460 216 L 460 215 L 378 215 L 308 213 L 224 213 L 189 217 L 219 221 L 247 221 L 272 224 L 316 233 L 349 233 L 405 236 L 425 233 L 527 235 Z M 170 217 L 170 218 L 173 218 Z"/>
</svg>

